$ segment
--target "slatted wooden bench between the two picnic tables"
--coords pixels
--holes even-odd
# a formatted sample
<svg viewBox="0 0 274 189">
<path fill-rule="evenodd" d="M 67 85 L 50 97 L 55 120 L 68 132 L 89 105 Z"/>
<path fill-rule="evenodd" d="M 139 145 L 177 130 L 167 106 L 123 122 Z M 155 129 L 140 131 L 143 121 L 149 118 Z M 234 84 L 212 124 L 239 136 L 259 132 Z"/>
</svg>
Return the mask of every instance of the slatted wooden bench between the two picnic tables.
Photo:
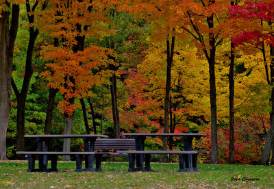
<svg viewBox="0 0 274 189">
<path fill-rule="evenodd" d="M 95 140 L 95 149 L 113 149 L 116 150 L 135 150 L 136 149 L 136 140 L 135 139 L 124 139 L 124 138 L 107 138 L 107 139 L 96 139 Z M 103 154 L 103 157 L 127 157 L 127 153 L 121 151 L 120 153 L 106 153 Z"/>
</svg>

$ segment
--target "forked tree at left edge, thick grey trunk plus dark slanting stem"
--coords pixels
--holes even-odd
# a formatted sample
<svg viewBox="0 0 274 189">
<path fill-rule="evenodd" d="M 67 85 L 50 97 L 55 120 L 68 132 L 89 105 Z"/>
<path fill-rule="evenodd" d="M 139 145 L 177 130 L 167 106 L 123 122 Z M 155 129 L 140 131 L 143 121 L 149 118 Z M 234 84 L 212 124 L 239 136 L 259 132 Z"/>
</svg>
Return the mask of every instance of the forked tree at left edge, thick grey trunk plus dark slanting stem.
<svg viewBox="0 0 274 189">
<path fill-rule="evenodd" d="M 12 81 L 12 61 L 14 42 L 18 30 L 19 5 L 12 4 L 10 22 L 10 3 L 0 3 L 0 160 L 6 160 L 5 136 L 10 117 L 10 96 Z"/>
</svg>

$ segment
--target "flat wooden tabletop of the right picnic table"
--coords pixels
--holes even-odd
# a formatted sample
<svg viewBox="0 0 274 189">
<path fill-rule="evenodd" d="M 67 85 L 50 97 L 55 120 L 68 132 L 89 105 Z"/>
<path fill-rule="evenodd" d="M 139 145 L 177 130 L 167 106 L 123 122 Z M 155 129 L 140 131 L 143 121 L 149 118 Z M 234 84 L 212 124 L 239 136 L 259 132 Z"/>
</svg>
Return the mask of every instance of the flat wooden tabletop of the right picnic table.
<svg viewBox="0 0 274 189">
<path fill-rule="evenodd" d="M 124 136 L 206 136 L 201 133 L 123 133 Z"/>
</svg>

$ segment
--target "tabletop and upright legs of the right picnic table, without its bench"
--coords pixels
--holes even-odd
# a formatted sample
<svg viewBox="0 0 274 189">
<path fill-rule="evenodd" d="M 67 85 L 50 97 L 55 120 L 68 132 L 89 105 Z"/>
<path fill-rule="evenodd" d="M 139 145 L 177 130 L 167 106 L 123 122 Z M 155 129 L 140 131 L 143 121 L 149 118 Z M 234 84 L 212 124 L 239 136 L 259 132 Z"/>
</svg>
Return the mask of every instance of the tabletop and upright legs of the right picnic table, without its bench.
<svg viewBox="0 0 274 189">
<path fill-rule="evenodd" d="M 151 137 L 183 137 L 184 138 L 184 151 L 192 151 L 192 140 L 193 138 L 201 138 L 201 136 L 206 136 L 206 134 L 201 133 L 123 133 L 123 136 L 134 136 L 136 140 L 136 151 L 145 151 L 145 140 L 148 136 Z M 160 152 L 159 152 L 160 153 Z M 197 156 L 195 156 L 197 157 Z M 188 154 L 188 160 L 186 160 L 186 171 L 197 171 L 197 167 L 191 168 L 192 165 L 192 154 Z M 136 170 L 138 171 L 148 171 L 144 168 L 144 155 L 136 154 Z"/>
</svg>

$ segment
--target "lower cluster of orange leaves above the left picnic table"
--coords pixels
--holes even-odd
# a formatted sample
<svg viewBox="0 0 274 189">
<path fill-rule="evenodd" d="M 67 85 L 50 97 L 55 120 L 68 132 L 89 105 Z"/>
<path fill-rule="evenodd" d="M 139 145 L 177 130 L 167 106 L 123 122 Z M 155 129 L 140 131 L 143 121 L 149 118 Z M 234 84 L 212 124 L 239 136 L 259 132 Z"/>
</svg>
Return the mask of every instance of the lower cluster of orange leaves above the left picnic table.
<svg viewBox="0 0 274 189">
<path fill-rule="evenodd" d="M 110 49 L 90 46 L 84 51 L 74 53 L 64 47 L 45 47 L 42 51 L 44 60 L 54 63 L 47 64 L 51 71 L 45 71 L 42 76 L 47 77 L 50 86 L 60 88 L 60 92 L 66 94 L 64 97 L 84 97 L 91 88 L 105 82 L 103 76 L 108 73 L 100 73 L 100 68 L 110 63 L 107 55 L 114 55 Z M 92 72 L 95 71 L 95 73 Z M 73 78 L 69 79 L 70 77 Z"/>
</svg>

